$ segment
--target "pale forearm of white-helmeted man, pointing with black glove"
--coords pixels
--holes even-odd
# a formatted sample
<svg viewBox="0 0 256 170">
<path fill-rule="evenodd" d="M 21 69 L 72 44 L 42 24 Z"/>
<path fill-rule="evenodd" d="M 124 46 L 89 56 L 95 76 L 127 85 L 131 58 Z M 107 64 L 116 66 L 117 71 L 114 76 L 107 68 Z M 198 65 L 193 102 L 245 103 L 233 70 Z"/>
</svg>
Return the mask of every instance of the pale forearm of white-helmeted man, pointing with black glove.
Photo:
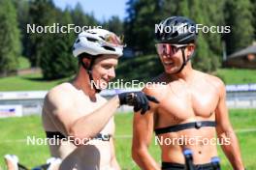
<svg viewBox="0 0 256 170">
<path fill-rule="evenodd" d="M 95 136 L 107 125 L 118 106 L 118 97 L 113 97 L 102 107 L 76 121 L 70 129 L 70 135 L 80 139 Z"/>
</svg>

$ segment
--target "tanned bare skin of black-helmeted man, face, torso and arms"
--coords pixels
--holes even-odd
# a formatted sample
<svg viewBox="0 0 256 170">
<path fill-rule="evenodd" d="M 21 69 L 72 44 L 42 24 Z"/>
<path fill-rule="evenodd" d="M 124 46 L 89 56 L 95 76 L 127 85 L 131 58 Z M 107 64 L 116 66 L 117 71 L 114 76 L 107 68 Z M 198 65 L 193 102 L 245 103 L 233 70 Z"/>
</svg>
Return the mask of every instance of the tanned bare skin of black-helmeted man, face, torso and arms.
<svg viewBox="0 0 256 170">
<path fill-rule="evenodd" d="M 194 50 L 194 44 L 185 47 L 186 60 L 192 56 Z M 195 121 L 215 121 L 216 128 L 188 128 L 159 134 L 158 137 L 163 140 L 186 136 L 182 139 L 181 145 L 177 143 L 160 145 L 162 161 L 184 164 L 182 151 L 188 148 L 193 152 L 195 164 L 209 163 L 212 156 L 217 156 L 216 145 L 205 145 L 203 142 L 189 143 L 188 139 L 200 136 L 210 140 L 215 138 L 217 133 L 220 140 L 230 141 L 221 147 L 233 168 L 242 170 L 239 143 L 228 116 L 224 83 L 215 76 L 193 70 L 191 62 L 177 73 L 183 63 L 181 49 L 174 52 L 167 51 L 169 53 L 159 54 L 165 72 L 153 79 L 157 85 L 144 88 L 145 94 L 155 97 L 160 103 L 150 103 L 151 109 L 145 115 L 142 116 L 138 112 L 134 116 L 132 147 L 134 160 L 141 169 L 161 169 L 148 153 L 148 146 L 155 128 L 166 128 Z"/>
</svg>

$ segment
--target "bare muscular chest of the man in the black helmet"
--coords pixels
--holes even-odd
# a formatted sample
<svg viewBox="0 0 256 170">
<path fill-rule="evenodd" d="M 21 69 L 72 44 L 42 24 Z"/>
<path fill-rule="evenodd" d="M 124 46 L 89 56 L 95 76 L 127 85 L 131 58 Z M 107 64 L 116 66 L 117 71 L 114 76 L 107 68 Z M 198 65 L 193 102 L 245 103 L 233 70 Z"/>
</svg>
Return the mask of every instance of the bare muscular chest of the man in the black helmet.
<svg viewBox="0 0 256 170">
<path fill-rule="evenodd" d="M 218 103 L 217 89 L 201 81 L 190 85 L 171 84 L 158 107 L 160 124 L 178 124 L 189 119 L 210 118 Z"/>
</svg>

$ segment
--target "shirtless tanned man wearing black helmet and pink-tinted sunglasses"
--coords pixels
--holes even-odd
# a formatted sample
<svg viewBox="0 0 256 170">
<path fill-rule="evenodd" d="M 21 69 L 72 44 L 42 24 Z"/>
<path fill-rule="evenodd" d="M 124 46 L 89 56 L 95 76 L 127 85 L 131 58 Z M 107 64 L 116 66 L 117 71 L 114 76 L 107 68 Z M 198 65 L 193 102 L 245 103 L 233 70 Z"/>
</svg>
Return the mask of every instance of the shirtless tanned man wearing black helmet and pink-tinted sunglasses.
<svg viewBox="0 0 256 170">
<path fill-rule="evenodd" d="M 217 133 L 233 168 L 243 170 L 239 143 L 225 102 L 225 85 L 215 76 L 193 70 L 189 60 L 196 46 L 195 23 L 173 16 L 160 24 L 173 29 L 169 33 L 156 32 L 157 53 L 165 72 L 154 78 L 158 82 L 154 87 L 144 88 L 145 94 L 154 96 L 160 103 L 151 103 L 143 116 L 135 113 L 134 160 L 144 170 L 184 169 L 182 151 L 190 149 L 195 169 L 212 169 L 209 162 L 217 156 Z M 161 148 L 161 167 L 148 153 L 153 131 Z"/>
</svg>

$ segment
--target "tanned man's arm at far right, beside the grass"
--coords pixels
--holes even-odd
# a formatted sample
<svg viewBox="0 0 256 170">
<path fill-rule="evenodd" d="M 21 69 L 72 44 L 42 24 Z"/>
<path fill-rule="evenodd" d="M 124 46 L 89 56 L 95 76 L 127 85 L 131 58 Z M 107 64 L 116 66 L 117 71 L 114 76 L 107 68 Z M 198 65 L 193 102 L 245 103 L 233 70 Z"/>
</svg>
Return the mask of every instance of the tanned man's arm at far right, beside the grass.
<svg viewBox="0 0 256 170">
<path fill-rule="evenodd" d="M 228 109 L 226 105 L 226 89 L 225 85 L 219 80 L 218 89 L 220 99 L 218 101 L 216 113 L 217 136 L 220 140 L 230 141 L 228 144 L 221 145 L 225 155 L 228 157 L 235 170 L 243 170 L 243 164 L 240 156 L 239 142 L 234 129 L 229 120 Z"/>
</svg>

